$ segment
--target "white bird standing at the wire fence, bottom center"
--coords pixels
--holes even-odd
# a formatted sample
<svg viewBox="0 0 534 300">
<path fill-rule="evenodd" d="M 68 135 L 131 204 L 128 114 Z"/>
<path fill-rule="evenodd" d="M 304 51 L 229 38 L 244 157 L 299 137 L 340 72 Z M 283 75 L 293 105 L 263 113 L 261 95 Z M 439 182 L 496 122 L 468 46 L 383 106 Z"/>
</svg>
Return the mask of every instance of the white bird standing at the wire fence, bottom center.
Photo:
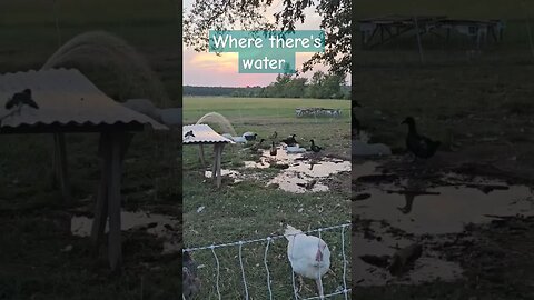
<svg viewBox="0 0 534 300">
<path fill-rule="evenodd" d="M 323 298 L 323 284 L 320 278 L 330 268 L 330 250 L 326 242 L 317 237 L 307 236 L 303 231 L 287 226 L 284 236 L 287 243 L 287 258 L 291 263 L 293 271 L 298 276 L 314 279 L 317 290 Z"/>
</svg>

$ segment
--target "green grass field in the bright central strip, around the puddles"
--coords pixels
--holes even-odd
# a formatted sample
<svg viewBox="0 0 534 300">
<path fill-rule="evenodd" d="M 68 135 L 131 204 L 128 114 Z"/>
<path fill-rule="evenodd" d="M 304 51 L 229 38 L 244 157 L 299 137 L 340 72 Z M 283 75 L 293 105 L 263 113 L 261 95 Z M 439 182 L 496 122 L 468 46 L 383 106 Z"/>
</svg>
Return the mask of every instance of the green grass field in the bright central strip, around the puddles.
<svg viewBox="0 0 534 300">
<path fill-rule="evenodd" d="M 343 118 L 324 119 L 296 118 L 297 107 L 323 107 L 343 109 Z M 285 138 L 296 133 L 297 139 L 314 138 L 327 150 L 325 154 L 349 158 L 349 101 L 312 99 L 246 99 L 246 98 L 185 98 L 185 123 L 195 123 L 205 113 L 216 111 L 228 118 L 236 131 L 254 131 L 259 138 L 277 131 Z M 235 242 L 266 238 L 283 233 L 283 223 L 289 223 L 301 230 L 316 229 L 346 223 L 350 220 L 348 173 L 335 176 L 337 188 L 329 192 L 296 194 L 275 187 L 266 187 L 269 178 L 279 170 L 243 168 L 244 160 L 257 159 L 240 146 L 225 148 L 222 169 L 243 171 L 248 178 L 239 183 L 225 180 L 216 189 L 210 180 L 204 178 L 198 162 L 197 147 L 184 149 L 184 241 L 186 247 L 209 246 L 212 243 Z M 207 160 L 208 162 L 210 159 Z M 200 213 L 199 207 L 205 207 Z M 334 291 L 343 281 L 343 259 L 340 252 L 340 230 L 323 232 L 329 244 L 334 274 L 324 278 L 325 291 Z M 349 258 L 348 230 L 346 236 L 346 256 Z M 269 247 L 268 263 L 276 299 L 289 299 L 291 292 L 291 272 L 286 257 L 286 240 L 277 240 Z M 266 271 L 264 267 L 265 243 L 244 246 L 246 277 L 249 294 L 254 299 L 268 299 Z M 221 263 L 221 289 L 224 299 L 238 299 L 244 294 L 240 277 L 238 247 L 217 250 Z M 199 273 L 205 286 L 199 299 L 216 299 L 215 260 L 210 250 L 192 253 L 194 259 L 205 264 Z M 349 260 L 349 259 L 348 259 Z M 349 267 L 348 267 L 349 268 Z M 349 269 L 348 269 L 349 270 Z M 347 278 L 349 280 L 349 278 Z M 349 281 L 347 281 L 349 282 Z M 348 284 L 348 283 L 347 283 Z M 314 289 L 315 283 L 306 286 Z M 304 291 L 305 296 L 314 296 Z M 335 297 L 333 299 L 343 299 Z"/>
</svg>

